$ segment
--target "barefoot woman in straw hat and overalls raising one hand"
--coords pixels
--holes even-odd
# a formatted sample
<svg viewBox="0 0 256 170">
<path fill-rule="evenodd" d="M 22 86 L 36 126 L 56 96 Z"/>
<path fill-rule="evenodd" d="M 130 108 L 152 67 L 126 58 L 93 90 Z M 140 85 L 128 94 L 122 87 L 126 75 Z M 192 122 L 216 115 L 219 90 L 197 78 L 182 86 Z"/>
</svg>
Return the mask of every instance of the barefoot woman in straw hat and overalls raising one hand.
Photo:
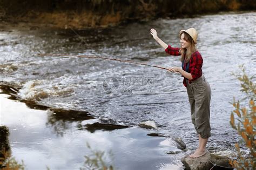
<svg viewBox="0 0 256 170">
<path fill-rule="evenodd" d="M 196 48 L 197 30 L 190 28 L 180 31 L 180 48 L 174 48 L 165 44 L 163 40 L 158 38 L 156 30 L 151 29 L 150 33 L 165 49 L 165 52 L 172 56 L 181 56 L 181 67 L 171 67 L 168 71 L 178 72 L 184 77 L 183 84 L 187 89 L 192 123 L 199 137 L 199 146 L 190 157 L 201 157 L 206 153 L 206 143 L 208 138 L 211 137 L 211 87 L 207 83 L 201 69 L 203 66 L 203 58 Z"/>
</svg>

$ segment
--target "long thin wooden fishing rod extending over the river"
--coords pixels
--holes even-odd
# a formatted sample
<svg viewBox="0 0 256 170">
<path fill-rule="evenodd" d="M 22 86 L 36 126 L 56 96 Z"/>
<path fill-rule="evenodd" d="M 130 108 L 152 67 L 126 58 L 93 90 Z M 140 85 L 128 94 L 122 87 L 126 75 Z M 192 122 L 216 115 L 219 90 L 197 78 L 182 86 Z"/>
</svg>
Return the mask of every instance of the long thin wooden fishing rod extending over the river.
<svg viewBox="0 0 256 170">
<path fill-rule="evenodd" d="M 81 55 L 56 55 L 56 54 L 38 54 L 38 56 L 56 56 L 56 57 L 83 57 L 83 58 L 99 58 L 99 59 L 107 59 L 107 60 L 116 60 L 119 62 L 125 62 L 125 63 L 132 63 L 132 64 L 139 64 L 139 65 L 146 65 L 151 67 L 157 67 L 159 69 L 169 70 L 165 67 L 160 67 L 156 65 L 150 65 L 150 64 L 144 64 L 144 63 L 138 63 L 138 62 L 132 62 L 130 60 L 121 60 L 116 58 L 106 58 L 106 57 L 98 57 L 98 56 L 81 56 Z"/>
</svg>

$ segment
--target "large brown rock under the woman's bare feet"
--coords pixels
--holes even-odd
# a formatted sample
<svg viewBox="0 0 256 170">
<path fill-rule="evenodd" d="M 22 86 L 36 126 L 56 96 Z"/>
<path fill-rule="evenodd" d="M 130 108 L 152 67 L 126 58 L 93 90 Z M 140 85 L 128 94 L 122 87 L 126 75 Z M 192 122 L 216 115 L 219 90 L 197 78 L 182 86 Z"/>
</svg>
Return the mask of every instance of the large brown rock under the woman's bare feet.
<svg viewBox="0 0 256 170">
<path fill-rule="evenodd" d="M 215 164 L 215 166 L 212 169 L 233 169 L 229 164 L 229 161 L 230 159 L 227 157 L 210 153 L 206 153 L 203 157 L 199 158 L 184 157 L 181 159 L 181 162 L 184 164 L 186 170 L 211 169 L 213 164 Z"/>
</svg>

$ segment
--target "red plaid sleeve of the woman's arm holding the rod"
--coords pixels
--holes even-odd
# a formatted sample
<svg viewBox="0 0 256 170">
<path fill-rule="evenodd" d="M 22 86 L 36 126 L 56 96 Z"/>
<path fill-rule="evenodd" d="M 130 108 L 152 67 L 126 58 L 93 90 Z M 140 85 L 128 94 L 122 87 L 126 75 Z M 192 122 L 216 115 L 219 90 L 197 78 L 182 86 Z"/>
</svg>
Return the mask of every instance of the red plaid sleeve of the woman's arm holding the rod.
<svg viewBox="0 0 256 170">
<path fill-rule="evenodd" d="M 191 56 L 190 63 L 190 73 L 193 77 L 193 80 L 202 76 L 202 66 L 203 66 L 203 58 L 198 51 L 194 52 Z"/>
</svg>

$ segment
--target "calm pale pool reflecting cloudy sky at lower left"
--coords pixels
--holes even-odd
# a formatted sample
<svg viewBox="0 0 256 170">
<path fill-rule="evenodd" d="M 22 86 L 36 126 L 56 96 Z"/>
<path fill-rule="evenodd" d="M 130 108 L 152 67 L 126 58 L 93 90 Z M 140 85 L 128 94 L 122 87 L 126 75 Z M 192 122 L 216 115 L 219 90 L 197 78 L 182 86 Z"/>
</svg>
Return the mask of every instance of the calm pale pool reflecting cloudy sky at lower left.
<svg viewBox="0 0 256 170">
<path fill-rule="evenodd" d="M 8 97 L 0 95 L 4 106 L 2 120 L 12 132 L 9 140 L 13 156 L 18 161 L 24 160 L 28 169 L 43 169 L 45 166 L 79 169 L 83 166 L 84 156 L 90 153 L 86 142 L 95 151 L 112 151 L 114 159 L 107 157 L 104 161 L 117 169 L 156 169 L 160 162 L 170 162 L 167 153 L 177 149 L 159 145 L 165 138 L 147 135 L 153 133 L 152 130 L 110 125 L 107 123 L 113 123 L 112 120 L 93 118 L 87 112 L 76 115 L 75 111 L 30 109 L 25 103 Z M 56 132 L 60 134 L 56 135 Z M 1 139 L 8 138 L 4 134 L 3 138 L 1 134 Z"/>
</svg>

